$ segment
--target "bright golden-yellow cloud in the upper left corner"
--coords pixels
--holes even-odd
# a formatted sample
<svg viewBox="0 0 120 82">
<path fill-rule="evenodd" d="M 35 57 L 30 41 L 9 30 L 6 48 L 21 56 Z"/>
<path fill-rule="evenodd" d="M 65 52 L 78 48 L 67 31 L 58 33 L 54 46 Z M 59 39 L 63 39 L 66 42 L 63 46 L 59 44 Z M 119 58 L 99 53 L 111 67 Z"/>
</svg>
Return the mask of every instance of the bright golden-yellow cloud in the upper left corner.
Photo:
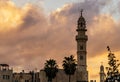
<svg viewBox="0 0 120 82">
<path fill-rule="evenodd" d="M 0 32 L 17 29 L 24 23 L 23 18 L 29 11 L 30 5 L 18 8 L 12 1 L 0 1 Z"/>
</svg>

